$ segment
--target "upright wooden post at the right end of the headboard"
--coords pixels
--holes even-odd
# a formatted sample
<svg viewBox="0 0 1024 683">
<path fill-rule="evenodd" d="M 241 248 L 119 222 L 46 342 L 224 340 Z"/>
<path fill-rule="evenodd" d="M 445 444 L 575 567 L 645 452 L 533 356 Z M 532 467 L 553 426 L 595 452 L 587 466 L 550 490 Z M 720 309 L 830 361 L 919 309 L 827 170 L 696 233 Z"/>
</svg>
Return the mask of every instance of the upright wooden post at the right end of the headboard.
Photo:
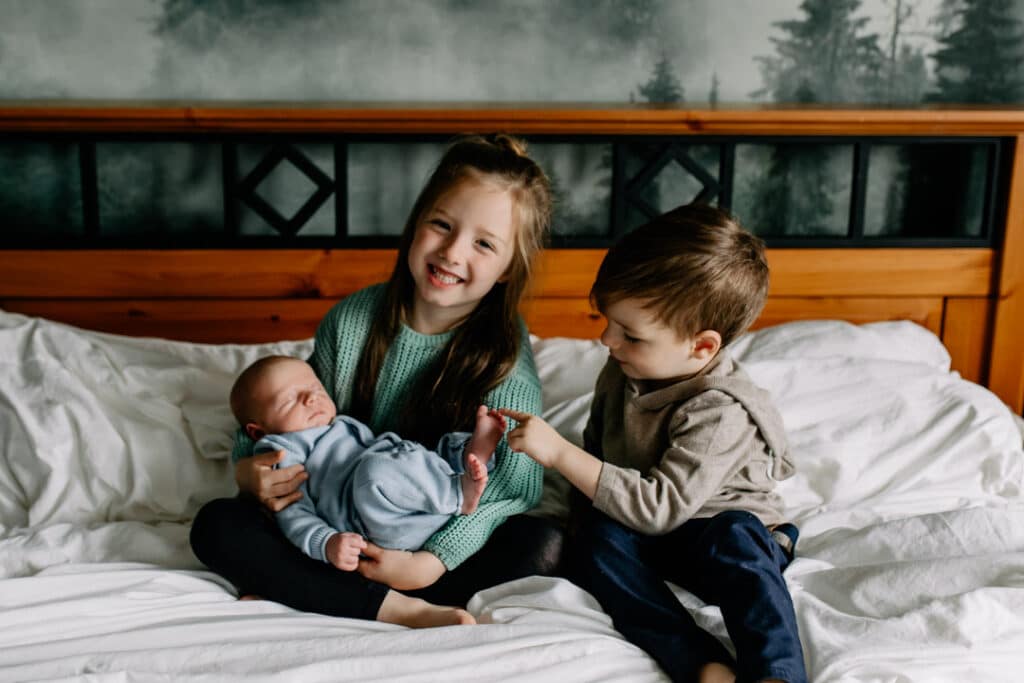
<svg viewBox="0 0 1024 683">
<path fill-rule="evenodd" d="M 1024 135 L 1017 136 L 1004 232 L 989 388 L 1018 415 L 1024 411 Z"/>
</svg>

